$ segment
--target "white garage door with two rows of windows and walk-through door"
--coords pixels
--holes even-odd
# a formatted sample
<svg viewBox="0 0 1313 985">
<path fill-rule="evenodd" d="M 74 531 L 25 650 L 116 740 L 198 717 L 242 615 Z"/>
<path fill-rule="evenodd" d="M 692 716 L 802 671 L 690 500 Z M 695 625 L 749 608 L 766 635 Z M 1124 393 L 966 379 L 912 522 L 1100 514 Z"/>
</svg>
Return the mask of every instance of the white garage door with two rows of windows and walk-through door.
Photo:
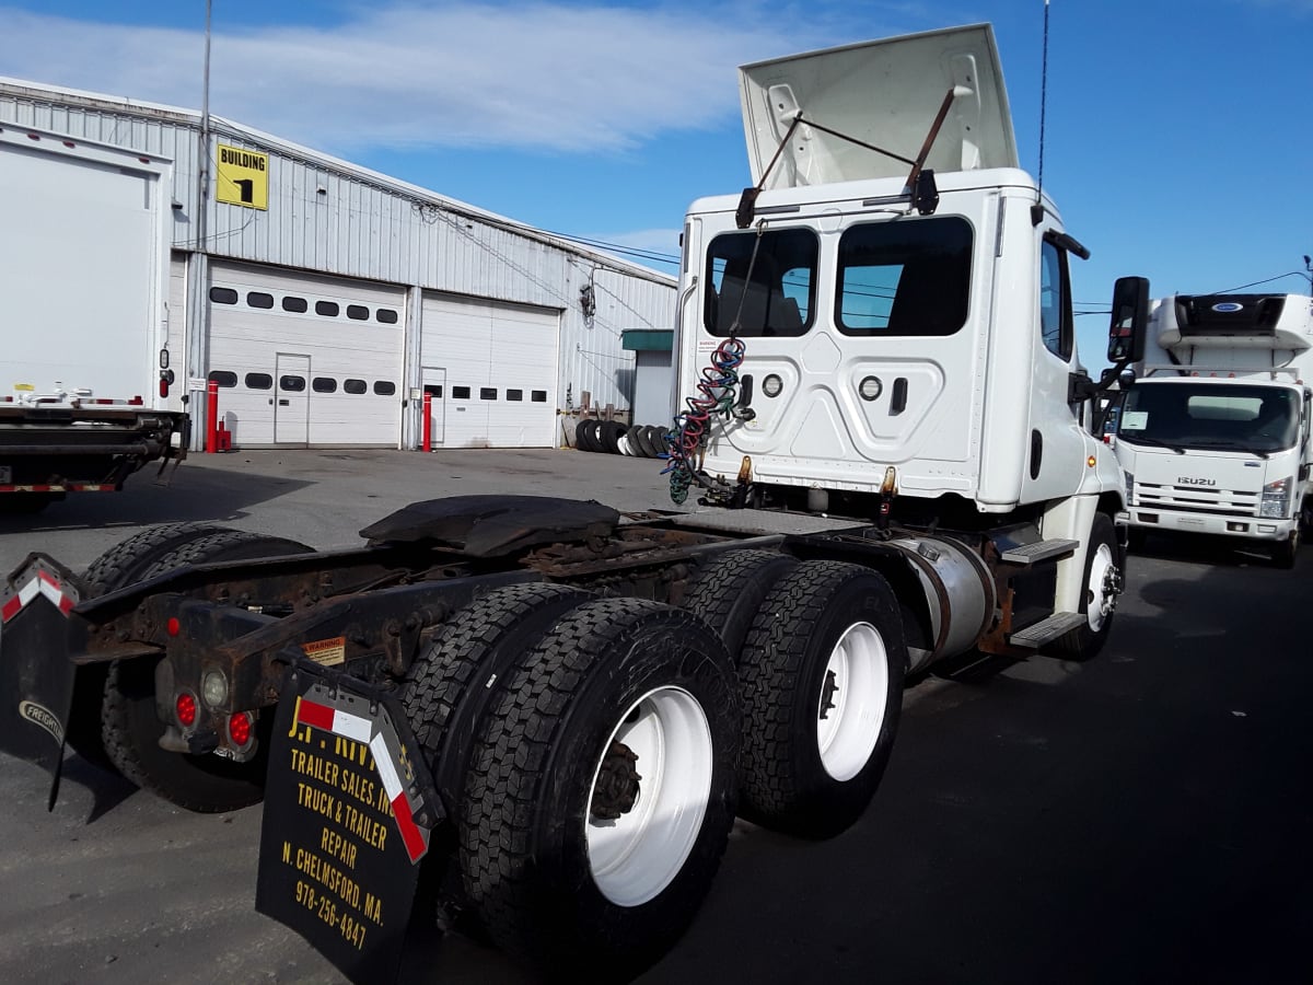
<svg viewBox="0 0 1313 985">
<path fill-rule="evenodd" d="M 210 378 L 236 445 L 398 447 L 406 293 L 210 268 Z"/>
</svg>

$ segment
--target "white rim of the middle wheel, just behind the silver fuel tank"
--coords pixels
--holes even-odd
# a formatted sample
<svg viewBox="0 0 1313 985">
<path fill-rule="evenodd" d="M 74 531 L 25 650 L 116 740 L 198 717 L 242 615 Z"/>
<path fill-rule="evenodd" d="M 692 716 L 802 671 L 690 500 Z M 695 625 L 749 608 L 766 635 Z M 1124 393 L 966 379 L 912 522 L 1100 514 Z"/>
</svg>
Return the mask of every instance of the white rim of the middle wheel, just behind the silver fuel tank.
<svg viewBox="0 0 1313 985">
<path fill-rule="evenodd" d="M 869 623 L 848 626 L 830 651 L 821 688 L 817 700 L 821 766 L 844 783 L 871 762 L 885 725 L 889 651 L 880 630 Z"/>
</svg>

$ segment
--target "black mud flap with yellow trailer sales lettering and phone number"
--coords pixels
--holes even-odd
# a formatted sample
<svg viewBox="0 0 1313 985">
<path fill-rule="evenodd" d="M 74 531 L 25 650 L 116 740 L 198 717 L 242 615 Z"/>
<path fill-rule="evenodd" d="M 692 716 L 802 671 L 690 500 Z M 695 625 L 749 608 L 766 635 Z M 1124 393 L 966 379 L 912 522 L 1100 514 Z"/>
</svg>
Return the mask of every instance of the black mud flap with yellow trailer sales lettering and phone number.
<svg viewBox="0 0 1313 985">
<path fill-rule="evenodd" d="M 274 718 L 257 911 L 353 982 L 395 981 L 419 863 L 444 818 L 400 705 L 306 662 Z"/>
</svg>

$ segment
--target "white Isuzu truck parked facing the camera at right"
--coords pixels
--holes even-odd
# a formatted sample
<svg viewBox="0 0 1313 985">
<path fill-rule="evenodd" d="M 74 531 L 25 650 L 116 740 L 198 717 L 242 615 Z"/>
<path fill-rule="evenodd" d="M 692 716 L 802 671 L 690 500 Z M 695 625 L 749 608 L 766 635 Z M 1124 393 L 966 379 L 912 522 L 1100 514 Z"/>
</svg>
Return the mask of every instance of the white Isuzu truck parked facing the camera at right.
<svg viewBox="0 0 1313 985">
<path fill-rule="evenodd" d="M 1133 540 L 1234 537 L 1293 566 L 1313 524 L 1313 298 L 1176 294 L 1152 307 L 1116 443 Z"/>
</svg>

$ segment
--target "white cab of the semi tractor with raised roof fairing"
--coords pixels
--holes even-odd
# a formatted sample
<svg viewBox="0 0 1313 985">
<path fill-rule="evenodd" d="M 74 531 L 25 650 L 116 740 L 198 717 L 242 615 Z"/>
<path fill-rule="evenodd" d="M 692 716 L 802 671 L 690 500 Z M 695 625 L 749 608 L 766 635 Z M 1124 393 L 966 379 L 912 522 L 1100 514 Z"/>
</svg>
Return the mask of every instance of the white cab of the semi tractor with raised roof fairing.
<svg viewBox="0 0 1313 985">
<path fill-rule="evenodd" d="M 1123 479 L 1071 311 L 1088 251 L 1019 167 L 990 28 L 739 81 L 756 185 L 696 201 L 684 230 L 680 429 L 702 498 L 1081 545 L 1095 515 L 1111 525 Z M 1083 558 L 1058 563 L 1060 609 L 1079 609 Z"/>
</svg>

